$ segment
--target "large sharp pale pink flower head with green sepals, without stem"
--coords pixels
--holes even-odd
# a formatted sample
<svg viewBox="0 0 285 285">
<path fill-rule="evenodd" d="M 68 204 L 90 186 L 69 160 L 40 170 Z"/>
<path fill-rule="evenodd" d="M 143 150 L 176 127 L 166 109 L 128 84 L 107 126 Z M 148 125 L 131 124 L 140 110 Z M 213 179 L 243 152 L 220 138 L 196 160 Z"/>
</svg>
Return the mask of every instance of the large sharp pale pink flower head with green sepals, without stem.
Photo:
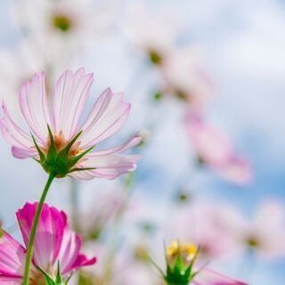
<svg viewBox="0 0 285 285">
<path fill-rule="evenodd" d="M 79 125 L 92 83 L 93 75 L 78 69 L 76 73 L 65 71 L 53 94 L 46 92 L 44 72 L 22 85 L 20 110 L 30 134 L 14 122 L 4 103 L 0 121 L 4 139 L 12 144 L 13 156 L 37 159 L 47 173 L 57 177 L 114 179 L 133 171 L 139 157 L 119 153 L 140 143 L 138 135 L 117 147 L 91 152 L 99 142 L 118 132 L 131 108 L 123 101 L 123 94 L 108 88 Z"/>
</svg>

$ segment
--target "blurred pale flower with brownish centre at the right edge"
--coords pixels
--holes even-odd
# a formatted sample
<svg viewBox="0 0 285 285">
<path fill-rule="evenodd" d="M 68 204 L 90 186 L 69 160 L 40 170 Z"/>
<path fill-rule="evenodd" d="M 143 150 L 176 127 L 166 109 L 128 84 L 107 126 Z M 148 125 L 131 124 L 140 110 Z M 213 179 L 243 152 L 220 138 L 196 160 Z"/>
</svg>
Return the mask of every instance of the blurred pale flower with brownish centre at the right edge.
<svg viewBox="0 0 285 285">
<path fill-rule="evenodd" d="M 285 256 L 285 208 L 281 202 L 268 199 L 262 202 L 252 219 L 228 221 L 240 246 L 263 258 Z"/>
</svg>

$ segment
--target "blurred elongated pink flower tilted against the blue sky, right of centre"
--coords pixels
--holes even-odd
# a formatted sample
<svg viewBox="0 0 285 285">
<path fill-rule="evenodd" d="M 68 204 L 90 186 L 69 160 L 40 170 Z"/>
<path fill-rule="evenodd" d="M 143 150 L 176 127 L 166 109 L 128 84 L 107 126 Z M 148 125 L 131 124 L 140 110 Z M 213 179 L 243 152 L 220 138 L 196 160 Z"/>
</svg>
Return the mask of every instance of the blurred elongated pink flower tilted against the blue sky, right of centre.
<svg viewBox="0 0 285 285">
<path fill-rule="evenodd" d="M 247 184 L 252 179 L 248 160 L 233 148 L 222 132 L 204 122 L 198 113 L 189 112 L 185 121 L 191 147 L 199 161 L 233 183 Z"/>
</svg>

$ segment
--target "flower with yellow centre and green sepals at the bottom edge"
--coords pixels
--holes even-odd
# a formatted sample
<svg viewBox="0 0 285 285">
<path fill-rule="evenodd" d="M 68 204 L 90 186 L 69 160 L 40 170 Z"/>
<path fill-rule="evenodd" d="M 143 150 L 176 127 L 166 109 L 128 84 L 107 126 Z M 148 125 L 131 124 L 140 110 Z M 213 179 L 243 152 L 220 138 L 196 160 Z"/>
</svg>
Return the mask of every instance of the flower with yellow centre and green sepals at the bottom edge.
<svg viewBox="0 0 285 285">
<path fill-rule="evenodd" d="M 175 240 L 166 251 L 167 273 L 164 279 L 168 285 L 246 285 L 206 267 L 197 269 L 199 249 L 192 243 Z"/>
</svg>

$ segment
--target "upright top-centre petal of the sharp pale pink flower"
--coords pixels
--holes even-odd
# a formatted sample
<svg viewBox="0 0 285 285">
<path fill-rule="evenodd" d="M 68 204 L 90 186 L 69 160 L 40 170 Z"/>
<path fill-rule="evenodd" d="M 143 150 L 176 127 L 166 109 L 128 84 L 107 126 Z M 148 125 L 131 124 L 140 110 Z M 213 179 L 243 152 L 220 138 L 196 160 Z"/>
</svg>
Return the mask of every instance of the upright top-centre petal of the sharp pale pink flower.
<svg viewBox="0 0 285 285">
<path fill-rule="evenodd" d="M 78 69 L 75 74 L 65 71 L 55 85 L 53 95 L 54 131 L 61 131 L 69 140 L 78 132 L 78 121 L 88 99 L 93 74 Z"/>
</svg>

